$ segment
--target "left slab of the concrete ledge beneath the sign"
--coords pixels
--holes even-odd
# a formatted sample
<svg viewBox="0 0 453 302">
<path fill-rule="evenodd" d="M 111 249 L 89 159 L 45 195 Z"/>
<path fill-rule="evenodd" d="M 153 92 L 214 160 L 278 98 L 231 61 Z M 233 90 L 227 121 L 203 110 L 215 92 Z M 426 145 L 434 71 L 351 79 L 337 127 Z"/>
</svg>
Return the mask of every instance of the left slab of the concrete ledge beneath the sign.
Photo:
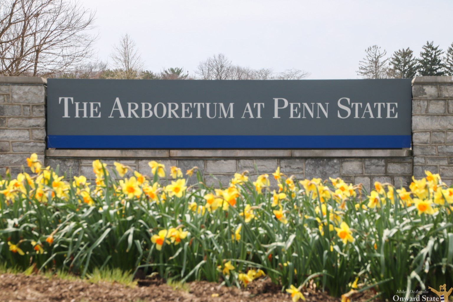
<svg viewBox="0 0 453 302">
<path fill-rule="evenodd" d="M 169 157 L 169 150 L 46 150 L 47 157 L 150 158 Z"/>
</svg>

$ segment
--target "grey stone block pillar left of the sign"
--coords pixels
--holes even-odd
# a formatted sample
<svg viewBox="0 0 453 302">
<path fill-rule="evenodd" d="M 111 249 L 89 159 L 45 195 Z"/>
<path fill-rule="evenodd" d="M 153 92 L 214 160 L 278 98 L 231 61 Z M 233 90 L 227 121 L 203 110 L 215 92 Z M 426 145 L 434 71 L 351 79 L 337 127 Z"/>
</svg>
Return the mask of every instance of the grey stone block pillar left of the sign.
<svg viewBox="0 0 453 302">
<path fill-rule="evenodd" d="M 46 149 L 46 79 L 0 77 L 0 175 L 6 168 L 15 177 L 26 158 L 37 153 L 44 163 Z"/>
</svg>

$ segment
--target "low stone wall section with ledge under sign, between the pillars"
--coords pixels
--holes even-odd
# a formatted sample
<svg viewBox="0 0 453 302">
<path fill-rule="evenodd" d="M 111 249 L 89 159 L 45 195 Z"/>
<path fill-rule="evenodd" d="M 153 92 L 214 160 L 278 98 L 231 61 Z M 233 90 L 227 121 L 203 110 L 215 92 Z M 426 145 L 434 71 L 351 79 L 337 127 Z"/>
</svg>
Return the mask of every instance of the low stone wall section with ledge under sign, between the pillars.
<svg viewBox="0 0 453 302">
<path fill-rule="evenodd" d="M 208 186 L 227 185 L 234 173 L 256 176 L 281 172 L 298 179 L 342 177 L 363 183 L 367 190 L 375 181 L 408 187 L 412 175 L 410 150 L 47 150 L 47 164 L 67 172 L 94 178 L 92 161 L 103 158 L 111 168 L 118 161 L 149 175 L 149 161 L 186 170 L 197 166 Z M 69 175 L 71 174 L 71 175 Z M 193 183 L 195 179 L 192 179 Z M 274 183 L 276 186 L 276 183 Z"/>
</svg>

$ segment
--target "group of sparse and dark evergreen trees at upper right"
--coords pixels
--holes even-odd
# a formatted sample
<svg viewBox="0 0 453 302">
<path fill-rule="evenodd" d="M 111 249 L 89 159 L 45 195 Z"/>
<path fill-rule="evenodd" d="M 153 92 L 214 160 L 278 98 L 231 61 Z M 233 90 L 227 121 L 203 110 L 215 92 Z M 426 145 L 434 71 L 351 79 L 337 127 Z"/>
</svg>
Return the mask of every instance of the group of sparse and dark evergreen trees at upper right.
<svg viewBox="0 0 453 302">
<path fill-rule="evenodd" d="M 418 58 L 410 48 L 398 49 L 391 57 L 377 45 L 365 50 L 357 75 L 366 79 L 453 76 L 453 43 L 444 52 L 434 41 L 427 41 Z"/>
</svg>

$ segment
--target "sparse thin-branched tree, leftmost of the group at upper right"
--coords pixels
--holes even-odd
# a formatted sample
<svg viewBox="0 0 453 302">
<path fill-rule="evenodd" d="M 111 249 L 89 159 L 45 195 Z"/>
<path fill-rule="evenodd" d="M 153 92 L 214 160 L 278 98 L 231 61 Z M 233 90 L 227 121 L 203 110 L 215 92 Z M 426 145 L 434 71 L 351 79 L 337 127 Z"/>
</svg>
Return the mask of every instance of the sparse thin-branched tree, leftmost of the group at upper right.
<svg viewBox="0 0 453 302">
<path fill-rule="evenodd" d="M 386 79 L 390 76 L 388 72 L 386 50 L 381 52 L 381 47 L 377 45 L 370 46 L 365 50 L 366 56 L 359 62 L 357 75 L 366 79 Z"/>
</svg>

